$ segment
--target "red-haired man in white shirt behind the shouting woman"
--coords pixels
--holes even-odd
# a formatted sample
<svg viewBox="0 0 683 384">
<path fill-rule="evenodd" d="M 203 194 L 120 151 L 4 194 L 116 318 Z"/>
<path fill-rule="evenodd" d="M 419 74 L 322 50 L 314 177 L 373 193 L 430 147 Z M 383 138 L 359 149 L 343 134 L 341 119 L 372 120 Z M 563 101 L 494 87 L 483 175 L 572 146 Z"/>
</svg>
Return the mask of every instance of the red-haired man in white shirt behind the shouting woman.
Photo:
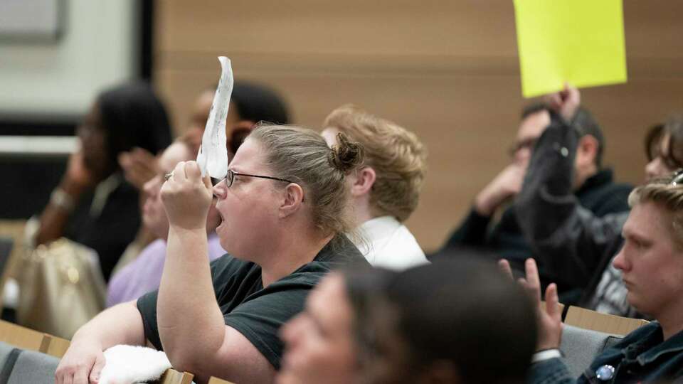
<svg viewBox="0 0 683 384">
<path fill-rule="evenodd" d="M 404 269 L 427 262 L 403 225 L 418 206 L 424 180 L 426 151 L 418 137 L 353 105 L 332 111 L 323 127 L 329 144 L 342 132 L 365 150 L 364 165 L 346 182 L 361 253 L 376 267 Z"/>
</svg>

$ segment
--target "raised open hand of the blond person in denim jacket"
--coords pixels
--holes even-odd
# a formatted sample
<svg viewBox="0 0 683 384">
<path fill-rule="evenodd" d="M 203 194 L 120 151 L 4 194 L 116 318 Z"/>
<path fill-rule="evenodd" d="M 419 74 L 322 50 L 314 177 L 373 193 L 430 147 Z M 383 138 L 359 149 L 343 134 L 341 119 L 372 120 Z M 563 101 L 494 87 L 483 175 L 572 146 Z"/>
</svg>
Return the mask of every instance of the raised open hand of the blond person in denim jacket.
<svg viewBox="0 0 683 384">
<path fill-rule="evenodd" d="M 511 279 L 512 269 L 507 260 L 499 260 L 500 269 Z M 545 306 L 541 303 L 541 280 L 539 270 L 534 259 L 526 259 L 524 262 L 526 279 L 517 280 L 531 297 L 531 301 L 536 308 L 536 321 L 539 326 L 539 339 L 536 344 L 536 351 L 545 349 L 559 348 L 562 337 L 562 311 L 559 306 L 557 296 L 557 285 L 550 284 L 546 288 Z"/>
</svg>

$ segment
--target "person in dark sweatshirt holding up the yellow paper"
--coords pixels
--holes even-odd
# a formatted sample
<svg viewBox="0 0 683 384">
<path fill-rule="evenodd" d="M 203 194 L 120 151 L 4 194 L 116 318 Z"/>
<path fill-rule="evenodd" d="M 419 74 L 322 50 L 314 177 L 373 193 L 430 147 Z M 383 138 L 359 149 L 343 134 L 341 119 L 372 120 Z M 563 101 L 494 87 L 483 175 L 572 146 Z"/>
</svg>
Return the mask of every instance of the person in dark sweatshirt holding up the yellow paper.
<svg viewBox="0 0 683 384">
<path fill-rule="evenodd" d="M 568 87 L 552 100 L 559 114 L 554 114 L 553 123 L 539 139 L 515 202 L 521 230 L 547 270 L 568 284 L 584 287 L 579 305 L 639 316 L 629 305 L 620 272 L 611 262 L 623 242 L 621 229 L 628 210 L 599 217 L 573 198 L 571 154 L 582 129 L 573 116 L 580 95 L 576 88 Z M 671 172 L 669 167 L 679 164 L 677 149 L 683 143 L 682 133 L 683 120 L 678 118 L 648 132 L 645 146 L 650 163 L 645 167 L 646 178 Z"/>
</svg>

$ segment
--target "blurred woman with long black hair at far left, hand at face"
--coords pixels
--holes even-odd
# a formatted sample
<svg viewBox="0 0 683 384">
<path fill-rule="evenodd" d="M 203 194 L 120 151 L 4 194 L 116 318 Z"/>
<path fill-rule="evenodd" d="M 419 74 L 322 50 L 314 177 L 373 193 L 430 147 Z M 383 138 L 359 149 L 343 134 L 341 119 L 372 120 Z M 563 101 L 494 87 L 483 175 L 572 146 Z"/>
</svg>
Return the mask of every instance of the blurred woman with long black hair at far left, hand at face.
<svg viewBox="0 0 683 384">
<path fill-rule="evenodd" d="M 140 224 L 138 191 L 125 181 L 117 161 L 134 147 L 153 154 L 171 144 L 164 105 L 139 82 L 102 92 L 76 134 L 79 150 L 43 210 L 35 242 L 65 237 L 92 248 L 109 279 Z"/>
</svg>

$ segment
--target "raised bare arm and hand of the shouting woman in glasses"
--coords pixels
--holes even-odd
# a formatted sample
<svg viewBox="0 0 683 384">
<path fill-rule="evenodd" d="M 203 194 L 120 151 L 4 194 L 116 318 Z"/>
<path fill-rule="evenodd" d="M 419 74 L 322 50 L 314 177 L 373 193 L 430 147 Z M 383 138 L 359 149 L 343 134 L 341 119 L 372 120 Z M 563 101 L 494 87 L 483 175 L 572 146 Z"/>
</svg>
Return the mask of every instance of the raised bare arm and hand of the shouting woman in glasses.
<svg viewBox="0 0 683 384">
<path fill-rule="evenodd" d="M 275 369 L 239 331 L 226 326 L 208 265 L 206 214 L 213 192 L 194 161 L 179 163 L 162 187 L 170 229 L 157 299 L 159 338 L 169 361 L 200 381 L 220 375 L 268 383 Z"/>
</svg>

